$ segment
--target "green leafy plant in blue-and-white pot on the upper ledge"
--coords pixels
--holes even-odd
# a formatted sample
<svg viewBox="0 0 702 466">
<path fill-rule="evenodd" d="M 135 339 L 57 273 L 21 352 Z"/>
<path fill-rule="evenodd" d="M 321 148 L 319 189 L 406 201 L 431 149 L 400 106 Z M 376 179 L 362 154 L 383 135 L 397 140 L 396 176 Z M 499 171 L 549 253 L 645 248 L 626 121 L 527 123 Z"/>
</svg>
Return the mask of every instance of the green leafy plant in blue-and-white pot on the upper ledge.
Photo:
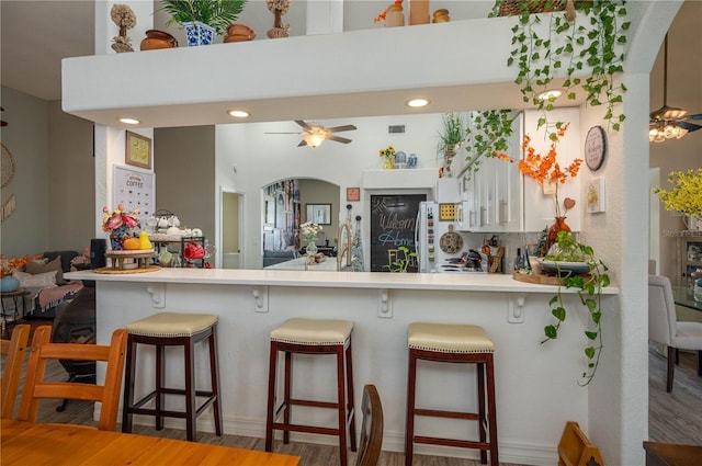
<svg viewBox="0 0 702 466">
<path fill-rule="evenodd" d="M 185 29 L 188 45 L 212 44 L 215 34 L 223 34 L 236 22 L 247 0 L 162 0 L 171 19 Z"/>
</svg>

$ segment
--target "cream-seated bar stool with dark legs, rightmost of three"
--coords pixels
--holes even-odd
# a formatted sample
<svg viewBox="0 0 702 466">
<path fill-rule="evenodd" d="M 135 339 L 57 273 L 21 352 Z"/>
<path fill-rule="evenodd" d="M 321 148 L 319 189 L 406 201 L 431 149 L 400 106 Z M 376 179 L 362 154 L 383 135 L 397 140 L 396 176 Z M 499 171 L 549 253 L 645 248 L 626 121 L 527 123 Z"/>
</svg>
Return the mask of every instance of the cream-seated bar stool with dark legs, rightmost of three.
<svg viewBox="0 0 702 466">
<path fill-rule="evenodd" d="M 409 372 L 407 376 L 407 424 L 405 436 L 405 465 L 411 466 L 414 444 L 431 444 L 476 448 L 480 451 L 480 463 L 498 466 L 497 412 L 495 402 L 495 345 L 485 330 L 469 325 L 410 323 L 407 343 L 409 346 Z M 415 406 L 417 361 L 477 365 L 477 412 L 420 409 Z M 415 435 L 415 417 L 465 419 L 478 422 L 479 441 L 454 440 Z M 487 432 L 486 432 L 487 424 Z"/>
</svg>

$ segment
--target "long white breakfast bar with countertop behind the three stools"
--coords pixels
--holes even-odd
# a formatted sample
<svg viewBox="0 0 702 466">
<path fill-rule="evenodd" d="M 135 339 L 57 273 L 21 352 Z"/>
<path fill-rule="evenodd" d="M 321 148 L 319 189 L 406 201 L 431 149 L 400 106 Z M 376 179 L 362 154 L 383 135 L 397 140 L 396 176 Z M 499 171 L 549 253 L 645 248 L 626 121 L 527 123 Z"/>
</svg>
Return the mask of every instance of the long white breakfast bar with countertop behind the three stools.
<svg viewBox="0 0 702 466">
<path fill-rule="evenodd" d="M 224 431 L 262 437 L 265 425 L 270 331 L 292 317 L 337 318 L 354 323 L 353 372 L 355 399 L 364 384 L 375 384 L 385 414 L 384 450 L 403 451 L 407 384 L 407 327 L 415 321 L 473 323 L 483 327 L 495 342 L 497 418 L 500 459 L 507 463 L 555 464 L 556 446 L 566 421 L 577 421 L 587 432 L 588 391 L 578 377 L 586 368 L 582 330 L 587 309 L 578 296 L 566 292 L 568 319 L 559 338 L 546 344 L 544 326 L 552 322 L 548 299 L 557 286 L 514 281 L 500 274 L 395 274 L 372 272 L 302 272 L 285 270 L 161 269 L 134 274 L 71 272 L 69 280 L 97 282 L 98 341 L 109 341 L 115 328 L 168 310 L 217 315 L 219 372 L 222 376 Z M 603 291 L 603 326 L 614 319 L 619 289 Z M 614 339 L 612 339 L 614 340 Z M 206 361 L 204 349 L 202 361 Z M 154 367 L 154 355 L 140 352 L 137 371 Z M 602 359 L 619 357 L 614 341 Z M 293 390 L 333 400 L 333 357 L 296 360 Z M 167 357 L 167 383 L 177 384 L 182 373 L 178 353 Z M 170 372 L 168 372 L 170 371 Z M 474 399 L 473 378 L 455 367 L 420 366 L 432 376 L 421 378 L 418 404 L 441 400 L 442 408 L 461 408 Z M 471 371 L 467 370 L 466 371 Z M 173 376 L 171 378 L 171 375 Z M 206 382 L 202 376 L 204 387 Z M 99 374 L 102 377 L 102 374 Z M 137 391 L 148 389 L 152 377 L 137 377 Z M 200 380 L 200 378 L 199 378 Z M 597 377 L 596 377 L 597 380 Z M 178 400 L 173 400 L 176 404 Z M 356 406 L 356 411 L 360 406 Z M 293 414 L 295 416 L 295 414 Z M 333 425 L 333 416 L 299 411 L 299 422 Z M 539 419 L 539 422 L 534 422 Z M 136 423 L 152 422 L 135 419 Z M 167 427 L 184 429 L 168 419 Z M 472 424 L 472 423 L 471 423 Z M 358 424 L 356 424 L 358 425 Z M 213 431 L 212 416 L 199 418 L 197 429 Z M 456 436 L 474 433 L 461 421 L 421 419 L 416 433 Z M 333 443 L 328 436 L 293 434 L 315 443 Z M 420 445 L 418 454 L 476 457 L 473 452 Z"/>
</svg>

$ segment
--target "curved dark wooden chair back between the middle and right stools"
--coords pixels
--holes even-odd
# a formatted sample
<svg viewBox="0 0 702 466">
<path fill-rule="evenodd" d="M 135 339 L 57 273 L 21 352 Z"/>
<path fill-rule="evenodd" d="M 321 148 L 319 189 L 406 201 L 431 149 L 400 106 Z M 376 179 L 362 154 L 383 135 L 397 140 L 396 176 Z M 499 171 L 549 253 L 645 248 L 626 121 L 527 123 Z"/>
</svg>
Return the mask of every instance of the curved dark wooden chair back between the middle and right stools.
<svg viewBox="0 0 702 466">
<path fill-rule="evenodd" d="M 376 466 L 383 447 L 383 406 L 375 385 L 363 387 L 361 443 L 355 466 Z"/>
</svg>

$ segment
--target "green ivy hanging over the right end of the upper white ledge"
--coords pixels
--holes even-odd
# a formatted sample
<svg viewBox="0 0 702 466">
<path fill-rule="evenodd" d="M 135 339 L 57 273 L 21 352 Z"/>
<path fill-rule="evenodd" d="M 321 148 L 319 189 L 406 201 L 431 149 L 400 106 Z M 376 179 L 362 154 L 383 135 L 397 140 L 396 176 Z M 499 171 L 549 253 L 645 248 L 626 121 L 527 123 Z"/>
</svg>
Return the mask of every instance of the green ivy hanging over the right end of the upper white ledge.
<svg viewBox="0 0 702 466">
<path fill-rule="evenodd" d="M 604 120 L 612 129 L 619 130 L 625 115 L 615 105 L 623 102 L 626 88 L 616 83 L 614 76 L 624 71 L 621 49 L 627 42 L 626 31 L 631 26 L 631 22 L 623 21 L 626 1 L 576 1 L 579 13 L 574 21 L 568 21 L 558 12 L 531 14 L 533 0 L 496 0 L 490 16 L 499 15 L 500 4 L 507 1 L 516 3 L 520 12 L 511 30 L 514 48 L 507 64 L 518 68 L 514 82 L 521 87 L 524 103 L 533 103 L 543 112 L 539 127 L 552 125 L 547 112 L 554 109 L 556 99 L 540 95 L 550 90 L 555 75 L 565 70 L 563 88 L 567 99 L 575 100 L 580 88 L 586 93 L 587 104 L 607 106 Z M 540 27 L 544 20 L 550 22 L 545 36 L 541 32 L 544 29 Z M 575 76 L 586 67 L 591 68 L 589 76 Z"/>
</svg>

